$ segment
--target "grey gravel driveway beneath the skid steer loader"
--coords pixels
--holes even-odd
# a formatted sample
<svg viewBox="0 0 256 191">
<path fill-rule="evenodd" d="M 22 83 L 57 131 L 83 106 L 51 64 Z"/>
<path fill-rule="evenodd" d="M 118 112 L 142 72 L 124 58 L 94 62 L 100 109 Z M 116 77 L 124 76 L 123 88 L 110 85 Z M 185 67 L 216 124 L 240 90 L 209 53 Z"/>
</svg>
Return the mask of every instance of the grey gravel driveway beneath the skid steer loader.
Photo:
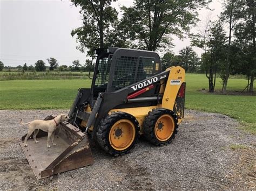
<svg viewBox="0 0 256 191">
<path fill-rule="evenodd" d="M 140 138 L 134 151 L 114 158 L 92 145 L 95 164 L 36 180 L 18 142 L 24 122 L 66 110 L 0 110 L 0 190 L 5 189 L 255 189 L 255 136 L 225 115 L 185 111 L 170 145 Z M 232 149 L 232 144 L 246 147 Z"/>
</svg>

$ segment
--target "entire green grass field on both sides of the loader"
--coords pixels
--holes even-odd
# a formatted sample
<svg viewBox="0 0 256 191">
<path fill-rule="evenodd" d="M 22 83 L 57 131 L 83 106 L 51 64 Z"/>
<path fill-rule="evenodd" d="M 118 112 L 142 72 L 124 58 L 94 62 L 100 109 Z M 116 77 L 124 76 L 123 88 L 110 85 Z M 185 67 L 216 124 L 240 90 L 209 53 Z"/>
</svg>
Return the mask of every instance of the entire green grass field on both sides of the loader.
<svg viewBox="0 0 256 191">
<path fill-rule="evenodd" d="M 15 80 L 0 81 L 0 109 L 69 109 L 80 87 L 89 88 L 90 80 Z M 186 74 L 186 109 L 218 112 L 238 119 L 241 128 L 256 133 L 256 97 L 213 95 L 203 74 Z M 245 79 L 230 79 L 228 90 L 242 90 Z M 221 89 L 217 79 L 216 89 Z M 254 91 L 256 89 L 254 88 Z"/>
</svg>

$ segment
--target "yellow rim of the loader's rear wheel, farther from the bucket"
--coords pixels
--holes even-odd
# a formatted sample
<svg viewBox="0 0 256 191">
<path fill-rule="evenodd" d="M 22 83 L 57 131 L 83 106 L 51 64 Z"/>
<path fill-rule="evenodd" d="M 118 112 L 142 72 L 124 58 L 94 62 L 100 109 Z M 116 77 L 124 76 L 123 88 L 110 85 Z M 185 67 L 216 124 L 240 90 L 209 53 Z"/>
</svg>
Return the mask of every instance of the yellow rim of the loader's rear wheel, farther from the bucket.
<svg viewBox="0 0 256 191">
<path fill-rule="evenodd" d="M 164 142 L 173 134 L 174 131 L 174 119 L 172 116 L 165 114 L 158 118 L 156 125 L 154 126 L 154 133 L 161 142 Z"/>
</svg>

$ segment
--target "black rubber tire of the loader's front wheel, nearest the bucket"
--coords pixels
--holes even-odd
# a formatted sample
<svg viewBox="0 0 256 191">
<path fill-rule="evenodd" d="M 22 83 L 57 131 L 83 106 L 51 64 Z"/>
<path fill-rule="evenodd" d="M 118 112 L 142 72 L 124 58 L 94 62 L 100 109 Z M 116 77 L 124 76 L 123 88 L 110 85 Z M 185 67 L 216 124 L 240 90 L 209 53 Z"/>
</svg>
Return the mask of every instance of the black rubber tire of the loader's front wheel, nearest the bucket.
<svg viewBox="0 0 256 191">
<path fill-rule="evenodd" d="M 111 131 L 112 126 L 121 119 L 128 119 L 134 125 L 135 128 L 135 136 L 133 142 L 129 147 L 125 148 L 122 151 L 116 150 L 114 147 L 112 147 L 109 139 L 109 133 Z M 112 112 L 111 115 L 108 115 L 107 117 L 102 119 L 100 125 L 98 126 L 96 133 L 97 142 L 100 145 L 100 147 L 103 148 L 104 151 L 111 155 L 114 155 L 115 157 L 118 157 L 119 155 L 127 154 L 133 150 L 135 144 L 138 142 L 139 129 L 139 122 L 132 115 L 121 111 Z"/>
</svg>

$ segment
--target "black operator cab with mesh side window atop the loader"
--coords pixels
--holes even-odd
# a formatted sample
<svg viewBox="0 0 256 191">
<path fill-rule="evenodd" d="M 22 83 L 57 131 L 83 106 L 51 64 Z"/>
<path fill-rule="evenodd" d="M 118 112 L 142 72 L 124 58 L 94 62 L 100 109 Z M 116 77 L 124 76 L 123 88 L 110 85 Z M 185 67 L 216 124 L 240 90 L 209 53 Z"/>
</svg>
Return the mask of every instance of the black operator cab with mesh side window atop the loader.
<svg viewBox="0 0 256 191">
<path fill-rule="evenodd" d="M 98 48 L 91 90 L 113 92 L 161 72 L 160 57 L 151 51 L 137 49 Z"/>
</svg>

